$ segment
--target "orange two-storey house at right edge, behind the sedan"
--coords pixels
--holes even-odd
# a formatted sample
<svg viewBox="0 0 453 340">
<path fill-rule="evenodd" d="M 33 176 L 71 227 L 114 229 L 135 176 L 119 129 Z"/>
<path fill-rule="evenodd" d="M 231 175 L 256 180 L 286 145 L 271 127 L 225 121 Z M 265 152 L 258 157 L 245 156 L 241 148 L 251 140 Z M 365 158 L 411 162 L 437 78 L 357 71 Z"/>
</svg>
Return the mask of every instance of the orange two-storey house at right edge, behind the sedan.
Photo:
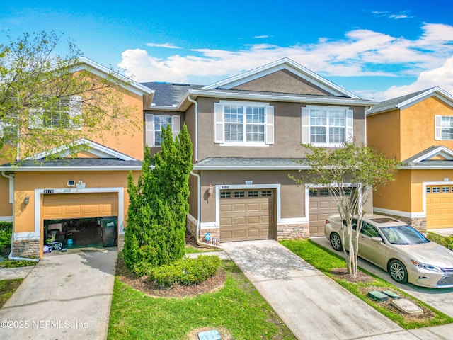
<svg viewBox="0 0 453 340">
<path fill-rule="evenodd" d="M 374 212 L 418 229 L 453 227 L 453 96 L 435 87 L 367 111 L 367 144 L 402 162 Z"/>
</svg>

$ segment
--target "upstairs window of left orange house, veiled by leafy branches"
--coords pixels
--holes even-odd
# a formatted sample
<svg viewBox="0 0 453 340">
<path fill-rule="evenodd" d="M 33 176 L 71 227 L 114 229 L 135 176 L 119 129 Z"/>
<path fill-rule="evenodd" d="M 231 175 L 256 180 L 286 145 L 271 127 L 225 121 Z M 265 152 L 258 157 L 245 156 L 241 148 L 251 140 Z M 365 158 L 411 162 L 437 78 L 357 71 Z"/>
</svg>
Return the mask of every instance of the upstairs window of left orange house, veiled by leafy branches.
<svg viewBox="0 0 453 340">
<path fill-rule="evenodd" d="M 50 101 L 49 101 L 50 102 Z M 59 99 L 57 103 L 46 105 L 44 108 L 30 109 L 30 129 L 64 128 L 68 130 L 81 130 L 82 101 L 80 96 L 71 96 L 68 99 Z"/>
</svg>

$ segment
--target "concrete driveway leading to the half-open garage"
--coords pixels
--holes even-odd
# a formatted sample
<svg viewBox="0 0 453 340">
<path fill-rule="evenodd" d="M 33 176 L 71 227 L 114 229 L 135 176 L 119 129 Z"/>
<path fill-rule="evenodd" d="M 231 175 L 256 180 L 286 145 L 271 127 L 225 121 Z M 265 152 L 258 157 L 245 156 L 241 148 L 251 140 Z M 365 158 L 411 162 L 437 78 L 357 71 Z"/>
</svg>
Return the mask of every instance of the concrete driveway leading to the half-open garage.
<svg viewBox="0 0 453 340">
<path fill-rule="evenodd" d="M 116 248 L 45 255 L 1 308 L 0 338 L 105 339 L 116 259 Z"/>
</svg>

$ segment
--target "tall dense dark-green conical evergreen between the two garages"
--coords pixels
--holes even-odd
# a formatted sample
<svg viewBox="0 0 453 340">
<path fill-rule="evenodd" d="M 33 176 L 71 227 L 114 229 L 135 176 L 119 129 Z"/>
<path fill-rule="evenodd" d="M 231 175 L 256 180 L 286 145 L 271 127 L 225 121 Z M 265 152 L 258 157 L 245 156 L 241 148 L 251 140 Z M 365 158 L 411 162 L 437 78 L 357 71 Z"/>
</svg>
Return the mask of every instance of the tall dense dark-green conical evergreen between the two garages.
<svg viewBox="0 0 453 340">
<path fill-rule="evenodd" d="M 161 151 L 154 155 L 154 169 L 146 148 L 137 186 L 132 174 L 128 179 L 130 205 L 123 253 L 130 268 L 143 262 L 162 266 L 185 254 L 192 142 L 185 125 L 175 140 L 170 127 L 162 134 L 164 140 Z"/>
</svg>

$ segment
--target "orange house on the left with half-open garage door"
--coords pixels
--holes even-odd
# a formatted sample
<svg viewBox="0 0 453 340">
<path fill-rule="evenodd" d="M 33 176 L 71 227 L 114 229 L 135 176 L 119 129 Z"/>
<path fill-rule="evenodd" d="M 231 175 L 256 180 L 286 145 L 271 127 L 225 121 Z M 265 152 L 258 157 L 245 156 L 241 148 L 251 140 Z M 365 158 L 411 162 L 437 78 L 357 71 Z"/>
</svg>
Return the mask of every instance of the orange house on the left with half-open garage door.
<svg viewBox="0 0 453 340">
<path fill-rule="evenodd" d="M 76 68 L 81 69 L 98 77 L 110 74 L 86 58 Z M 140 123 L 154 92 L 134 81 L 122 84 L 122 102 L 134 108 L 131 120 Z M 82 107 L 82 118 L 83 111 Z M 69 157 L 67 145 L 23 159 L 18 165 L 0 166 L 0 220 L 13 221 L 13 256 L 42 256 L 45 240 L 52 237 L 79 244 L 100 242 L 103 217 L 113 217 L 118 232 L 123 232 L 129 201 L 127 175 L 132 170 L 137 178 L 142 166 L 142 130 L 115 137 L 105 132 L 74 143 L 85 146 L 76 158 Z M 50 154 L 57 159 L 45 160 Z M 117 239 L 109 242 L 113 238 Z"/>
</svg>

